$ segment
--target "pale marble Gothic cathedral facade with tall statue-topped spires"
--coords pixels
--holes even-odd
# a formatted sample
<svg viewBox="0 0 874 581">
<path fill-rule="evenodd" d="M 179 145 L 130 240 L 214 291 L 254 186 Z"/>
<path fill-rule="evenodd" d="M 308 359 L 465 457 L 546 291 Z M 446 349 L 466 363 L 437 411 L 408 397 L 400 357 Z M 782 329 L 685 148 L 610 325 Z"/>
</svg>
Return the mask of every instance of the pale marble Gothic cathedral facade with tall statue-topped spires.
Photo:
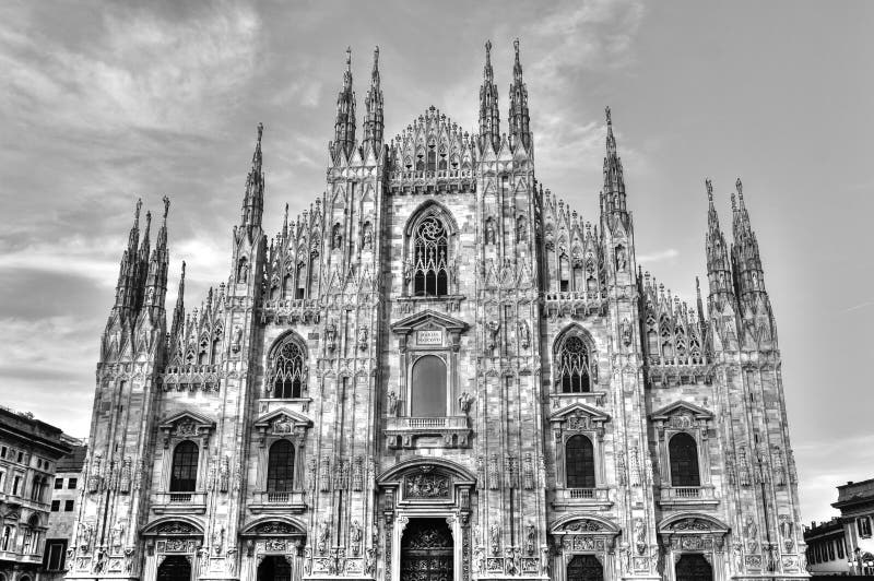
<svg viewBox="0 0 874 581">
<path fill-rule="evenodd" d="M 326 191 L 272 237 L 259 126 L 198 308 L 138 203 L 69 579 L 806 577 L 740 180 L 731 244 L 707 182 L 689 307 L 637 264 L 610 110 L 593 223 L 538 182 L 515 48 L 505 132 L 491 44 L 479 134 L 430 107 L 386 139 L 378 50 L 358 133 L 347 64 Z"/>
</svg>

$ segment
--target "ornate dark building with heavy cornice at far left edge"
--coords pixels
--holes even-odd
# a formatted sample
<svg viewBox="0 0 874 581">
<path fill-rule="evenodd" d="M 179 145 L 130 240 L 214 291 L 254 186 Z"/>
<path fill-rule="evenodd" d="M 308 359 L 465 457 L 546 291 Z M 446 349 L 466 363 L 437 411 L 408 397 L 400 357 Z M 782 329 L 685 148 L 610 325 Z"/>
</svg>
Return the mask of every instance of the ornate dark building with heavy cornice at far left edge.
<svg viewBox="0 0 874 581">
<path fill-rule="evenodd" d="M 42 579 L 55 471 L 70 451 L 59 428 L 0 407 L 0 581 Z"/>
</svg>

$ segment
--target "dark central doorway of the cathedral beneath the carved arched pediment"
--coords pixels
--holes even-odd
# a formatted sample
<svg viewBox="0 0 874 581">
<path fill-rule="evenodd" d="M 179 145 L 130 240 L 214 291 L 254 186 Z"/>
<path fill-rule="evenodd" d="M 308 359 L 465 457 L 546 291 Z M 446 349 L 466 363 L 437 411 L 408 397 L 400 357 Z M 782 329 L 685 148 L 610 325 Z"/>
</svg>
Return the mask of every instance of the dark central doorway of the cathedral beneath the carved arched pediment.
<svg viewBox="0 0 874 581">
<path fill-rule="evenodd" d="M 401 581 L 452 581 L 452 549 L 446 519 L 410 519 L 401 540 Z"/>
</svg>

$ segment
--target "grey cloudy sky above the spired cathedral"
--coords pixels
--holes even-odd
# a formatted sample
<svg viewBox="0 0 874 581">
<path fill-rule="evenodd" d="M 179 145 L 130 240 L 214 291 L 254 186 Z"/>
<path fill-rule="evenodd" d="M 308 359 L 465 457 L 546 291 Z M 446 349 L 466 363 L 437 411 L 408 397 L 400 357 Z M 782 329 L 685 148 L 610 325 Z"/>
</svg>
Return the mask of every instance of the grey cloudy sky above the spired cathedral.
<svg viewBox="0 0 874 581">
<path fill-rule="evenodd" d="M 324 186 L 344 50 L 359 110 L 380 47 L 387 134 L 429 105 L 475 131 L 483 43 L 506 120 L 519 37 L 539 179 L 597 218 L 613 109 L 638 260 L 694 297 L 705 177 L 734 179 L 777 315 L 805 520 L 874 476 L 874 4 L 29 2 L 0 4 L 2 403 L 86 436 L 134 201 L 173 200 L 172 286 L 227 276 L 263 121 L 268 229 Z M 173 295 L 173 290 L 170 292 Z"/>
</svg>

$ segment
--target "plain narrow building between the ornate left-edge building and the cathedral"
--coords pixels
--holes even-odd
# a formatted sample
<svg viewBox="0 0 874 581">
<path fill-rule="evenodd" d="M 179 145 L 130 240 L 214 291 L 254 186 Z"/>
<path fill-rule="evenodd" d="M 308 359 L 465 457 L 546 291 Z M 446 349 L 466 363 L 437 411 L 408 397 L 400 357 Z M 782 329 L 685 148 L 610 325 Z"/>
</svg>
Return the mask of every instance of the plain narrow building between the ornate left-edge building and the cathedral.
<svg viewBox="0 0 874 581">
<path fill-rule="evenodd" d="M 44 579 L 62 579 L 67 572 L 67 554 L 72 547 L 73 530 L 79 502 L 82 499 L 82 467 L 87 447 L 80 440 L 64 436 L 72 451 L 61 458 L 55 471 L 51 489 L 51 508 L 43 553 Z"/>
</svg>

